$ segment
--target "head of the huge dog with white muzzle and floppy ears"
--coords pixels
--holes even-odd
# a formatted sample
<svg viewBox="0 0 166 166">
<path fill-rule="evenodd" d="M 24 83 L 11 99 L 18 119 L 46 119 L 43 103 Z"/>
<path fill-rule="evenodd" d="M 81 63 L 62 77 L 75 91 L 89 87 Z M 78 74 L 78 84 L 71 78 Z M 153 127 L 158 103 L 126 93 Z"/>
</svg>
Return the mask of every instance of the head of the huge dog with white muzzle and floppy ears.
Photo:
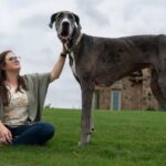
<svg viewBox="0 0 166 166">
<path fill-rule="evenodd" d="M 80 18 L 70 11 L 60 11 L 51 15 L 50 28 L 55 22 L 55 29 L 59 39 L 66 43 L 71 38 L 75 29 L 81 30 Z"/>
</svg>

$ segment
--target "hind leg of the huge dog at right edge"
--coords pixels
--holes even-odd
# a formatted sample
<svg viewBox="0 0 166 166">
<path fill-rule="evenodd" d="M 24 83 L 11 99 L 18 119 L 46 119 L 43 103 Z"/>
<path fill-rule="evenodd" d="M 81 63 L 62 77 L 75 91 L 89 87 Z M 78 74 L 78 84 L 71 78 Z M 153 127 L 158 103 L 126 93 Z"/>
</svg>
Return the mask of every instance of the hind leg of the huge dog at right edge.
<svg viewBox="0 0 166 166">
<path fill-rule="evenodd" d="M 159 103 L 159 110 L 166 110 L 166 82 L 164 81 L 164 75 L 158 75 L 155 70 L 152 70 L 151 89 Z"/>
</svg>

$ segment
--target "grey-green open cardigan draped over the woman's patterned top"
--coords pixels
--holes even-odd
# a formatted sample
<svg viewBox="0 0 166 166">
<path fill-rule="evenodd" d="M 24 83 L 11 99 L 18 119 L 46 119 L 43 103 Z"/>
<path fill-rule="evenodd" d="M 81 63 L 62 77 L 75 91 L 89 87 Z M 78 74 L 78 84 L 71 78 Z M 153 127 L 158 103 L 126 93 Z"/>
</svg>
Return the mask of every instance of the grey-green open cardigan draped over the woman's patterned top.
<svg viewBox="0 0 166 166">
<path fill-rule="evenodd" d="M 42 118 L 44 101 L 50 84 L 50 73 L 33 73 L 22 76 L 28 89 L 28 118 L 30 123 L 39 122 Z M 0 98 L 0 121 L 3 123 L 4 106 Z"/>
</svg>

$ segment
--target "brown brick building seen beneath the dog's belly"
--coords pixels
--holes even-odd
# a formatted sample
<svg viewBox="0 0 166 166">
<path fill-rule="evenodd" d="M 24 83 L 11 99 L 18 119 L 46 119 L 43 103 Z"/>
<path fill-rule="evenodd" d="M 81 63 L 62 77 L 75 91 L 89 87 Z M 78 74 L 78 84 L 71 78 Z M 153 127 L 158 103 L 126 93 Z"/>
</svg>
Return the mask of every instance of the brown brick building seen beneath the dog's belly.
<svg viewBox="0 0 166 166">
<path fill-rule="evenodd" d="M 112 86 L 95 86 L 93 107 L 98 110 L 158 110 L 151 91 L 151 70 L 145 69 Z"/>
</svg>

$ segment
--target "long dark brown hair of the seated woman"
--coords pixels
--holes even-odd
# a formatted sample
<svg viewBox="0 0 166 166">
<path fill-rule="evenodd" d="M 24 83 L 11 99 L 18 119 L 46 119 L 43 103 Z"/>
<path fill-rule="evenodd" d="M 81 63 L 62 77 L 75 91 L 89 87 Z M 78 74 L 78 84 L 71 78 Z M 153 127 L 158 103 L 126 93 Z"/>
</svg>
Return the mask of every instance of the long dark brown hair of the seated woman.
<svg viewBox="0 0 166 166">
<path fill-rule="evenodd" d="M 6 65 L 6 55 L 10 52 L 12 52 L 12 51 L 7 50 L 7 51 L 0 53 L 0 100 L 2 101 L 2 104 L 4 106 L 8 106 L 10 103 L 10 93 L 9 93 L 9 90 L 7 89 L 7 86 L 4 84 L 4 81 L 7 80 L 7 74 L 6 74 L 6 71 L 3 70 L 3 68 Z M 18 75 L 18 87 L 15 91 L 21 92 L 21 87 L 23 90 L 27 90 L 23 77 Z"/>
</svg>

